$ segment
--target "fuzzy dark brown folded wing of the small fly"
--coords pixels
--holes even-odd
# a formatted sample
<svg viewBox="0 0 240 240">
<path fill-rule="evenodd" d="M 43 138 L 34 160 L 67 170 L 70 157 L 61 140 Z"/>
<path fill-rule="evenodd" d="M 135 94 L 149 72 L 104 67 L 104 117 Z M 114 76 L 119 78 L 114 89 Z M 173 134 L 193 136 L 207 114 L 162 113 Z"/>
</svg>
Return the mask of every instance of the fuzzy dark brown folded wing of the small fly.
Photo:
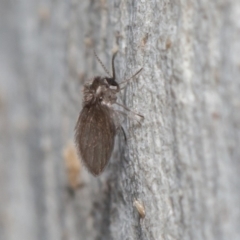
<svg viewBox="0 0 240 240">
<path fill-rule="evenodd" d="M 99 175 L 107 165 L 115 135 L 111 109 L 104 105 L 83 108 L 76 125 L 75 140 L 82 161 L 93 175 Z"/>
</svg>

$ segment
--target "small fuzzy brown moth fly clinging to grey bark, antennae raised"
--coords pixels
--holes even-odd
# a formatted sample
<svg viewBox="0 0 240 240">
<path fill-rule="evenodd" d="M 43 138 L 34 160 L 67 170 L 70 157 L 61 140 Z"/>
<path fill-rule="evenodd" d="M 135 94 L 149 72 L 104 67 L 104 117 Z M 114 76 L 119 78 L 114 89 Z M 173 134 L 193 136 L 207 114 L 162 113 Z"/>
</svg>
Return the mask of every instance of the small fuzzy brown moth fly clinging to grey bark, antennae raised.
<svg viewBox="0 0 240 240">
<path fill-rule="evenodd" d="M 75 141 L 80 158 L 94 176 L 102 173 L 107 165 L 113 151 L 115 136 L 121 128 L 117 121 L 118 112 L 114 110 L 113 104 L 130 111 L 117 103 L 120 84 L 129 81 L 142 70 L 141 68 L 131 78 L 118 84 L 114 66 L 116 54 L 117 52 L 112 57 L 112 77 L 97 76 L 90 84 L 84 85 L 83 109 L 75 127 Z M 97 55 L 96 57 L 108 73 Z M 109 73 L 108 75 L 110 76 Z"/>
</svg>

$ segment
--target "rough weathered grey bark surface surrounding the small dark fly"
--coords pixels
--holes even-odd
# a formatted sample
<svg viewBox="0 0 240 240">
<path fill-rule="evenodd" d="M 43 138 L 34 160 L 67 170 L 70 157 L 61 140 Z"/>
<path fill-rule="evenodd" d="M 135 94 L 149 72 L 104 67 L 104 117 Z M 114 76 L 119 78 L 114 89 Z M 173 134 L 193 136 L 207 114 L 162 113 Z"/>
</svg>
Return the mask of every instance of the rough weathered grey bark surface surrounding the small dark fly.
<svg viewBox="0 0 240 240">
<path fill-rule="evenodd" d="M 240 239 L 240 2 L 0 2 L 0 239 Z M 84 82 L 118 47 L 125 119 L 69 194 Z M 134 200 L 145 206 L 139 218 Z"/>
</svg>

